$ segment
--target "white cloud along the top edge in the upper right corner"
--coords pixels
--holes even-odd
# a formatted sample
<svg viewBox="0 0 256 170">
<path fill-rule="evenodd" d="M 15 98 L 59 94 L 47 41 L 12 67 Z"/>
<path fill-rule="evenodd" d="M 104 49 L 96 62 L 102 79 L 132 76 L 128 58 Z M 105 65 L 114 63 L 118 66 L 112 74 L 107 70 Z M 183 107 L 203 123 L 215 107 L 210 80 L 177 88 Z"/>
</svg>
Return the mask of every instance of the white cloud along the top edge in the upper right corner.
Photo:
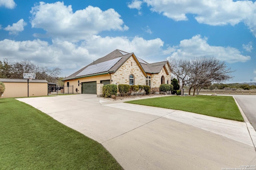
<svg viewBox="0 0 256 170">
<path fill-rule="evenodd" d="M 256 37 L 256 2 L 249 0 L 144 0 L 153 12 L 175 21 L 188 20 L 194 14 L 198 23 L 236 25 L 244 22 Z"/>
</svg>

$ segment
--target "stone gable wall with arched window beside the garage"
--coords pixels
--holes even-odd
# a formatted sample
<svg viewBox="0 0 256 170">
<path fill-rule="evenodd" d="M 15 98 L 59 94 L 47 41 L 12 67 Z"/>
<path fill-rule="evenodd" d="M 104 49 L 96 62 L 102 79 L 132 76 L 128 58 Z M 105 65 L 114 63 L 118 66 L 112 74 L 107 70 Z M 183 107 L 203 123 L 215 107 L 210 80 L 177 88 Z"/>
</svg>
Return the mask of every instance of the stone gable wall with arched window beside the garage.
<svg viewBox="0 0 256 170">
<path fill-rule="evenodd" d="M 146 77 L 132 56 L 111 75 L 111 84 L 129 84 L 130 74 L 134 75 L 134 85 L 146 85 Z"/>
</svg>

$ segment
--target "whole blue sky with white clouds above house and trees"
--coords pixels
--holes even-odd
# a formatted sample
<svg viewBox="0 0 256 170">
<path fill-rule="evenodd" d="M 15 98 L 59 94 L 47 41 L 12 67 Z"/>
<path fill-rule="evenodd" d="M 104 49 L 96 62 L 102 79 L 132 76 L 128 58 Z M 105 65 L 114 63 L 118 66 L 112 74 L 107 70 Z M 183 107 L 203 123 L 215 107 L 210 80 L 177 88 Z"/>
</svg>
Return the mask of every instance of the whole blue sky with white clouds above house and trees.
<svg viewBox="0 0 256 170">
<path fill-rule="evenodd" d="M 232 0 L 0 0 L 0 59 L 28 59 L 69 76 L 120 49 L 149 63 L 225 61 L 256 82 L 256 2 Z"/>
</svg>

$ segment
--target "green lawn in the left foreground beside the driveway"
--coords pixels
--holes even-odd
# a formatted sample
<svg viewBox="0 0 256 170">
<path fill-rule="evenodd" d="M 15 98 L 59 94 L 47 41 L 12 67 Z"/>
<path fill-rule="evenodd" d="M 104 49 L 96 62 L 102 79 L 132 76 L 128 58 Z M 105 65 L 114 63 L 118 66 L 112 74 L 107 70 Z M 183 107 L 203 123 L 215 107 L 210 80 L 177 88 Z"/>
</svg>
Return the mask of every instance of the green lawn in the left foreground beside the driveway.
<svg viewBox="0 0 256 170">
<path fill-rule="evenodd" d="M 0 98 L 0 169 L 118 170 L 96 141 L 14 98 Z"/>
</svg>

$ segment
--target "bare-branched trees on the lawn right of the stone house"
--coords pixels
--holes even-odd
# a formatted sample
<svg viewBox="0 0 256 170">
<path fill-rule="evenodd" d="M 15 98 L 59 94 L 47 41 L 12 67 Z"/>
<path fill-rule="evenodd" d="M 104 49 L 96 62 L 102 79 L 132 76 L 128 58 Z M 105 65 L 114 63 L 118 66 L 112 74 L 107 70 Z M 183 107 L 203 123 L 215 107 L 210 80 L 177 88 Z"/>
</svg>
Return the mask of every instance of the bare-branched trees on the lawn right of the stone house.
<svg viewBox="0 0 256 170">
<path fill-rule="evenodd" d="M 221 83 L 233 78 L 233 70 L 227 68 L 224 61 L 214 57 L 194 57 L 192 59 L 170 58 L 171 72 L 180 85 L 181 95 L 184 95 L 184 86 L 189 86 L 189 95 L 193 88 L 199 94 L 200 90 L 212 83 Z"/>
</svg>

